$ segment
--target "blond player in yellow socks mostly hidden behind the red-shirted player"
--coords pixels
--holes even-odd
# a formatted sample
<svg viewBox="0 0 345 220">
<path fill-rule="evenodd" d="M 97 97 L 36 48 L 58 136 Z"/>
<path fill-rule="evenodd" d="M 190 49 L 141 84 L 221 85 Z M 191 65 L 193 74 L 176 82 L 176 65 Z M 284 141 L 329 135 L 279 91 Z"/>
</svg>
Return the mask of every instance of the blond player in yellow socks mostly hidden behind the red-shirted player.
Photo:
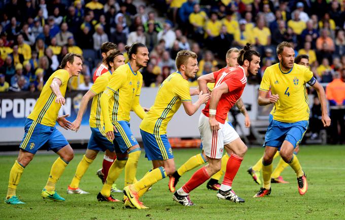
<svg viewBox="0 0 345 220">
<path fill-rule="evenodd" d="M 231 48 L 228 50 L 228 52 L 226 53 L 226 59 L 225 59 L 227 67 L 237 67 L 238 66 L 238 63 L 237 63 L 238 52 L 239 51 L 237 48 Z M 214 83 L 209 83 L 209 84 L 213 84 L 213 86 L 214 86 Z M 208 86 L 209 86 L 209 84 L 208 84 Z M 245 126 L 249 127 L 250 126 L 250 118 L 249 118 L 249 115 L 247 113 L 247 109 L 246 109 L 242 99 L 239 98 L 238 101 L 235 103 L 235 105 L 240 110 L 240 112 L 243 113 L 243 115 L 246 117 L 245 118 Z M 228 121 L 227 123 L 230 126 L 232 126 L 230 121 Z M 200 149 L 202 150 L 202 144 L 200 145 Z M 226 162 L 228 161 L 228 159 L 229 159 L 229 155 L 227 153 L 224 154 L 222 157 L 222 168 L 221 168 L 221 170 L 219 170 L 217 173 L 215 173 L 211 177 L 209 182 L 206 184 L 206 188 L 208 188 L 210 190 L 217 190 L 217 191 L 219 190 L 220 184 L 218 183 L 218 181 L 220 180 L 222 175 L 225 173 Z M 179 182 L 180 177 L 185 172 L 187 172 L 191 169 L 194 169 L 195 167 L 202 165 L 206 162 L 207 162 L 207 158 L 206 158 L 206 155 L 204 154 L 203 151 L 200 154 L 194 155 L 191 158 L 189 158 L 184 164 L 182 164 L 182 166 L 180 166 L 179 169 L 177 169 L 172 175 L 170 175 L 169 184 L 168 184 L 170 192 L 175 192 L 175 187 L 176 187 L 177 183 Z"/>
</svg>

